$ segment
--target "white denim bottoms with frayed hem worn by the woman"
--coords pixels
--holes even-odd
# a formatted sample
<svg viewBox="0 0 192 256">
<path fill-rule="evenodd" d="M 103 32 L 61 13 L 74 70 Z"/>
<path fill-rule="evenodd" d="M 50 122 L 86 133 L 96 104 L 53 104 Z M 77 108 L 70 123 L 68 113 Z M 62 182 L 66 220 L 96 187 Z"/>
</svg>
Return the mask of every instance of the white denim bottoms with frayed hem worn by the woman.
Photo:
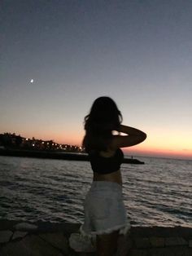
<svg viewBox="0 0 192 256">
<path fill-rule="evenodd" d="M 122 187 L 118 183 L 94 181 L 85 197 L 85 222 L 80 231 L 83 236 L 95 236 L 130 229 L 124 207 Z"/>
</svg>

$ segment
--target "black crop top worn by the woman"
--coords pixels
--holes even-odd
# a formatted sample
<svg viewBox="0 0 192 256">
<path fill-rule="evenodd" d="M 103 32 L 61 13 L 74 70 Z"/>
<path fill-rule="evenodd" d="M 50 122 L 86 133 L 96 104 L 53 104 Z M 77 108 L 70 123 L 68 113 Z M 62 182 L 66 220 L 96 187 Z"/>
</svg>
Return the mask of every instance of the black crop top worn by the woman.
<svg viewBox="0 0 192 256">
<path fill-rule="evenodd" d="M 89 152 L 89 161 L 92 170 L 98 174 L 111 174 L 120 170 L 120 165 L 124 159 L 124 153 L 120 148 L 112 157 L 102 157 L 98 151 Z"/>
</svg>

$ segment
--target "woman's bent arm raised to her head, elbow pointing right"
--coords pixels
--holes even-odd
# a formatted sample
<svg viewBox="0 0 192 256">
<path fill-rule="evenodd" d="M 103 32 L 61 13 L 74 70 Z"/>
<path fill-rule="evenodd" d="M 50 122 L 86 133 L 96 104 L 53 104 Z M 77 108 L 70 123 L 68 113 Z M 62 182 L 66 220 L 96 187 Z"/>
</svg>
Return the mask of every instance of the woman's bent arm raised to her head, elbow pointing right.
<svg viewBox="0 0 192 256">
<path fill-rule="evenodd" d="M 142 130 L 138 130 L 130 126 L 121 125 L 119 131 L 126 135 L 113 136 L 111 142 L 111 148 L 113 149 L 131 147 L 138 143 L 142 143 L 146 139 L 146 134 Z"/>
</svg>

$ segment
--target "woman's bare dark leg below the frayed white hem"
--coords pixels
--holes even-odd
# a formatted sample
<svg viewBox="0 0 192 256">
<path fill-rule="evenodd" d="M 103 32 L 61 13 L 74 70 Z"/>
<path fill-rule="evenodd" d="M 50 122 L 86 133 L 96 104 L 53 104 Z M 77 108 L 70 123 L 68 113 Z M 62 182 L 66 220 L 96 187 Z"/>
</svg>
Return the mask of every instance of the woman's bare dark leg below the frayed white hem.
<svg viewBox="0 0 192 256">
<path fill-rule="evenodd" d="M 119 231 L 97 236 L 97 256 L 112 256 L 116 253 Z"/>
</svg>

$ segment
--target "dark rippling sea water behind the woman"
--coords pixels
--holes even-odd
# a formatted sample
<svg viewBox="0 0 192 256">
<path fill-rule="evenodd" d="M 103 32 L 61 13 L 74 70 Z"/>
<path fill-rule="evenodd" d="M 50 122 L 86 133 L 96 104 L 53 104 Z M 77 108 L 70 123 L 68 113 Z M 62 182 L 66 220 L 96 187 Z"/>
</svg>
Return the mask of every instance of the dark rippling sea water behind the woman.
<svg viewBox="0 0 192 256">
<path fill-rule="evenodd" d="M 192 161 L 137 157 L 121 167 L 133 225 L 192 227 Z M 83 221 L 89 162 L 0 157 L 0 218 Z"/>
</svg>

